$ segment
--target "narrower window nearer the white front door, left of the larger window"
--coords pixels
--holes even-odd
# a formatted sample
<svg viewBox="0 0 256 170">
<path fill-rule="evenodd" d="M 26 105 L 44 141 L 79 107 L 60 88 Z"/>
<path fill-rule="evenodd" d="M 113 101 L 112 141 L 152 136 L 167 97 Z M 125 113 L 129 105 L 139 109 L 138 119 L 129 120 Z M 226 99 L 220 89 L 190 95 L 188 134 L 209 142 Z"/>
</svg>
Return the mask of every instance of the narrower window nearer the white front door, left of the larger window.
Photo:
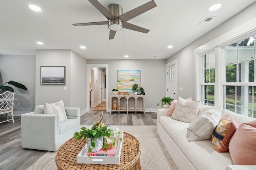
<svg viewBox="0 0 256 170">
<path fill-rule="evenodd" d="M 214 106 L 215 51 L 201 56 L 201 102 Z"/>
</svg>

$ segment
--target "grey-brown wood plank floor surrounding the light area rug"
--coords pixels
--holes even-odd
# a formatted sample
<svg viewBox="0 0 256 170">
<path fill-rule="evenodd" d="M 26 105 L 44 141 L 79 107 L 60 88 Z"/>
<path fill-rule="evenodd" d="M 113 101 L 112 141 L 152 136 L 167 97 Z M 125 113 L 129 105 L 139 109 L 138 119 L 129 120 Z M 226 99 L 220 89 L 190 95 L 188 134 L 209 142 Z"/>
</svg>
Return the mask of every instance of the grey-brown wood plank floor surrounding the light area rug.
<svg viewBox="0 0 256 170">
<path fill-rule="evenodd" d="M 81 115 L 81 125 L 93 125 L 102 111 Z M 156 125 L 157 113 L 109 113 L 104 111 L 105 125 Z M 15 123 L 0 123 L 0 170 L 26 170 L 47 151 L 21 148 L 21 118 Z"/>
</svg>

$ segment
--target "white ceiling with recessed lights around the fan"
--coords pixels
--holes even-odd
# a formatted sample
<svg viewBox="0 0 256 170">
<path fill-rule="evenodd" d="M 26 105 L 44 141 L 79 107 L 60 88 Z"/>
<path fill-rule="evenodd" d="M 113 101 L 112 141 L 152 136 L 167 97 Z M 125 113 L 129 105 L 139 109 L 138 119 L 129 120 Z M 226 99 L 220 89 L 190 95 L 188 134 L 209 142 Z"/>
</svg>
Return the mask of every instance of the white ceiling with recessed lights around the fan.
<svg viewBox="0 0 256 170">
<path fill-rule="evenodd" d="M 98 0 L 105 8 L 119 4 L 126 13 L 150 0 Z M 108 40 L 107 25 L 73 23 L 107 21 L 88 0 L 1 0 L 0 55 L 35 55 L 36 49 L 71 49 L 86 59 L 167 59 L 256 0 L 154 0 L 156 8 L 127 21 L 150 29 L 122 29 Z M 207 8 L 215 3 L 215 12 Z M 42 8 L 34 12 L 34 4 Z M 204 18 L 215 16 L 198 26 Z M 108 32 L 107 32 L 108 31 Z M 44 45 L 37 45 L 42 41 Z M 86 49 L 80 49 L 80 46 Z M 168 49 L 168 45 L 173 48 Z"/>
</svg>

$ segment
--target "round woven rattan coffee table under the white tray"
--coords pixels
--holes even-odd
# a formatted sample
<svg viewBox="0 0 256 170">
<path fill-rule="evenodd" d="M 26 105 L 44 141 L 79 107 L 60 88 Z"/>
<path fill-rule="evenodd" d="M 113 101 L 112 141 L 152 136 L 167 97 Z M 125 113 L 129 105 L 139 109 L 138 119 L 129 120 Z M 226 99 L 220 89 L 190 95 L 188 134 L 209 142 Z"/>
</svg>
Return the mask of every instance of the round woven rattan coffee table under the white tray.
<svg viewBox="0 0 256 170">
<path fill-rule="evenodd" d="M 136 137 L 124 132 L 120 164 L 77 164 L 76 156 L 87 141 L 69 139 L 56 153 L 58 170 L 140 170 L 140 142 Z"/>
</svg>

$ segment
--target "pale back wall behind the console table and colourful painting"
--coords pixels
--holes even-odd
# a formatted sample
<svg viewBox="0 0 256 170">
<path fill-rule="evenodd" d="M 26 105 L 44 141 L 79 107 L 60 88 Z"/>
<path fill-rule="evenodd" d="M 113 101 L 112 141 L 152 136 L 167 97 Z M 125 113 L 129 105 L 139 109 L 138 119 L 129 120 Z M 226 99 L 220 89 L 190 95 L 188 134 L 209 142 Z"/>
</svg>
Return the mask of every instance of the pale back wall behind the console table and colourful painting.
<svg viewBox="0 0 256 170">
<path fill-rule="evenodd" d="M 156 104 L 166 96 L 166 60 L 87 60 L 87 63 L 109 64 L 108 94 L 117 88 L 117 70 L 140 70 L 140 86 L 146 93 L 146 111 L 156 111 Z"/>
</svg>

